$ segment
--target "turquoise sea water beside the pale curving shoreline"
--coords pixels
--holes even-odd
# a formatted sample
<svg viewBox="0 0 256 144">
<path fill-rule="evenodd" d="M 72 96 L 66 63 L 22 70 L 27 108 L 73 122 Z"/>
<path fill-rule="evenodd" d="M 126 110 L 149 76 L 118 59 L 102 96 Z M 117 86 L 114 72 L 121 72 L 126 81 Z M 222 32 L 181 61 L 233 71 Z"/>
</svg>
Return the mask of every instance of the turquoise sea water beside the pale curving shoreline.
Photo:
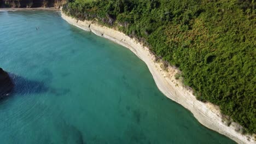
<svg viewBox="0 0 256 144">
<path fill-rule="evenodd" d="M 167 99 L 132 52 L 56 11 L 1 11 L 0 67 L 16 85 L 0 143 L 235 143 Z"/>
</svg>

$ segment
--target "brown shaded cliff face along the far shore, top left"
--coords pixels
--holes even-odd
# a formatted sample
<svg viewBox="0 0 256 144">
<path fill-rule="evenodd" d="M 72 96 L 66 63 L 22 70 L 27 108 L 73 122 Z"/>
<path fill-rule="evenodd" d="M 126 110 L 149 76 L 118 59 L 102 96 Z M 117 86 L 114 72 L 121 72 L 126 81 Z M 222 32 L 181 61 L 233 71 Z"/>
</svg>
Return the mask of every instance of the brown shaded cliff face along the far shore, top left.
<svg viewBox="0 0 256 144">
<path fill-rule="evenodd" d="M 0 0 L 0 7 L 5 8 L 60 8 L 66 0 Z"/>
</svg>

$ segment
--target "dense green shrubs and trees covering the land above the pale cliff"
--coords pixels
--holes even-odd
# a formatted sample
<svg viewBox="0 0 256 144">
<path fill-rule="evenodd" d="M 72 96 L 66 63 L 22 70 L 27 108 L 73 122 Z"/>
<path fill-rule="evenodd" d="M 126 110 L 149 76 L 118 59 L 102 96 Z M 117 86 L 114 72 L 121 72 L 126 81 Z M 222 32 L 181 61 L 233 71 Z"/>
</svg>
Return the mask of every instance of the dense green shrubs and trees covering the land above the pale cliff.
<svg viewBox="0 0 256 144">
<path fill-rule="evenodd" d="M 69 0 L 63 11 L 143 42 L 182 70 L 197 99 L 256 133 L 254 0 Z"/>
</svg>

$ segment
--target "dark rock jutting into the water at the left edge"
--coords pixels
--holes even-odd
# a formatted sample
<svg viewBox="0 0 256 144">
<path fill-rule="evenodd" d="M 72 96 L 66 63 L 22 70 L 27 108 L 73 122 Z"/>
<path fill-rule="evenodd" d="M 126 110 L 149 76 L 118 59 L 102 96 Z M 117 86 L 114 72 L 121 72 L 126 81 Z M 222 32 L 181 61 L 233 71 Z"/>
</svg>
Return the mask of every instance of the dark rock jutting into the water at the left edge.
<svg viewBox="0 0 256 144">
<path fill-rule="evenodd" d="M 7 95 L 14 85 L 7 72 L 0 68 L 0 99 Z"/>
</svg>

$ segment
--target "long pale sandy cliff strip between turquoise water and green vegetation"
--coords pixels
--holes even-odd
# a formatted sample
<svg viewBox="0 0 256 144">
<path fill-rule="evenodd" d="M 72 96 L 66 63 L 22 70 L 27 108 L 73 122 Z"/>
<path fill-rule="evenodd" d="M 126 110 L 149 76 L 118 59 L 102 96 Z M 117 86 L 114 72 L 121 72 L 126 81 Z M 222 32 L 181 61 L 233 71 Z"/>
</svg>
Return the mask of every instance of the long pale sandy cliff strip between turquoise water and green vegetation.
<svg viewBox="0 0 256 144">
<path fill-rule="evenodd" d="M 76 20 L 63 13 L 61 13 L 61 16 L 71 25 L 79 27 L 84 31 L 95 33 L 100 37 L 112 40 L 130 49 L 147 64 L 160 91 L 166 97 L 191 111 L 194 117 L 205 127 L 218 131 L 218 133 L 228 136 L 237 143 L 256 143 L 253 140 L 254 136 L 242 135 L 236 131 L 238 124 L 232 122 L 229 127 L 224 124 L 218 106 L 196 100 L 193 92 L 189 88 L 184 87 L 181 81 L 174 78 L 174 75 L 179 70 L 171 66 L 168 66 L 167 70 L 163 70 L 162 63 L 156 62 L 155 56 L 150 53 L 149 49 L 139 44 L 135 39 L 115 29 L 98 25 L 97 22 Z"/>
</svg>

